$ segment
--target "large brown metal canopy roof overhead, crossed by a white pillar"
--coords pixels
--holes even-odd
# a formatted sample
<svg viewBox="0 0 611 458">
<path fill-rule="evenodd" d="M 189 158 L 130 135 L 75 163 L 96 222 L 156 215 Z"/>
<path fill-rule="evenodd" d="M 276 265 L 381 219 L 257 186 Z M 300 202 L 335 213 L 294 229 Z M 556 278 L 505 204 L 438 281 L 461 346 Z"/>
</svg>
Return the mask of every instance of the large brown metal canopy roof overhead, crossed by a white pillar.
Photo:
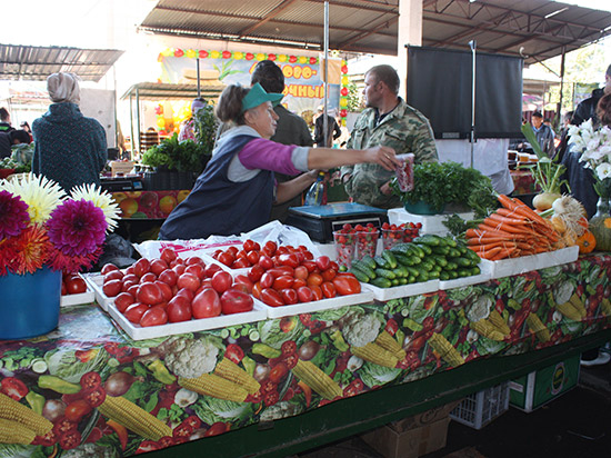
<svg viewBox="0 0 611 458">
<path fill-rule="evenodd" d="M 329 0 L 331 49 L 397 54 L 400 0 Z M 611 12 L 549 0 L 423 0 L 422 46 L 559 56 L 611 33 Z M 160 0 L 140 26 L 154 33 L 308 49 L 323 47 L 323 0 Z"/>
</svg>

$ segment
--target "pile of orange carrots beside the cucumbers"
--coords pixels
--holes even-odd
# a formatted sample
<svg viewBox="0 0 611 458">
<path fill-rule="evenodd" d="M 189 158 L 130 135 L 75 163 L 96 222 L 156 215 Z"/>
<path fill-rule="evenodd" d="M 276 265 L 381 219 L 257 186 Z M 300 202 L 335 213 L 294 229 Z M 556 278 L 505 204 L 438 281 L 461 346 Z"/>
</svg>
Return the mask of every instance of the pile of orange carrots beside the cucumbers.
<svg viewBox="0 0 611 458">
<path fill-rule="evenodd" d="M 497 261 L 555 249 L 560 236 L 548 220 L 520 199 L 500 195 L 499 202 L 501 208 L 465 232 L 467 245 L 480 258 Z"/>
</svg>

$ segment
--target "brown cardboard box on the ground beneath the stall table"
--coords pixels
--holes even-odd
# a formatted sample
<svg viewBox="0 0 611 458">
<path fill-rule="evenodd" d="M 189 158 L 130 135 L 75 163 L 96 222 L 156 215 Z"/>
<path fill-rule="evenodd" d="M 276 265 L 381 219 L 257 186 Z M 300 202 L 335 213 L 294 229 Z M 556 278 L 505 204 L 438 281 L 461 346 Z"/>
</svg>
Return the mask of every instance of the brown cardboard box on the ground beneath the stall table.
<svg viewBox="0 0 611 458">
<path fill-rule="evenodd" d="M 445 447 L 451 402 L 365 432 L 361 438 L 387 458 L 418 458 Z"/>
</svg>

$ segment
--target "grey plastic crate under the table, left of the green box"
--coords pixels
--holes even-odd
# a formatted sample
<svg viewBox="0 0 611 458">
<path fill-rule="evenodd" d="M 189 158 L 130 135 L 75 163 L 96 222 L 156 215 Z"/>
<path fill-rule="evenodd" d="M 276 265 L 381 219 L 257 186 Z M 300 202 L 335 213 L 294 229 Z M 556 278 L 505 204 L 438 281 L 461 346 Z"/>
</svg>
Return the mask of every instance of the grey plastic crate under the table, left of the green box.
<svg viewBox="0 0 611 458">
<path fill-rule="evenodd" d="M 465 397 L 450 412 L 450 418 L 474 429 L 482 429 L 509 410 L 509 381 Z"/>
</svg>

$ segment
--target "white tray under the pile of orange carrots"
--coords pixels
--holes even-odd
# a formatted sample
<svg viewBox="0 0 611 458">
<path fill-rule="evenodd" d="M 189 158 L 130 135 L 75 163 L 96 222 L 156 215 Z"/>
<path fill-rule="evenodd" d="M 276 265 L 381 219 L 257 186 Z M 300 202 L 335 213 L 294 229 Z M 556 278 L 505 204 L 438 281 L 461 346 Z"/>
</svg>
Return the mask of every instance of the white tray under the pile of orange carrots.
<svg viewBox="0 0 611 458">
<path fill-rule="evenodd" d="M 500 261 L 482 259 L 480 266 L 482 273 L 489 273 L 490 278 L 502 278 L 573 262 L 578 257 L 579 247 L 575 246 L 521 258 L 501 259 Z"/>
</svg>

